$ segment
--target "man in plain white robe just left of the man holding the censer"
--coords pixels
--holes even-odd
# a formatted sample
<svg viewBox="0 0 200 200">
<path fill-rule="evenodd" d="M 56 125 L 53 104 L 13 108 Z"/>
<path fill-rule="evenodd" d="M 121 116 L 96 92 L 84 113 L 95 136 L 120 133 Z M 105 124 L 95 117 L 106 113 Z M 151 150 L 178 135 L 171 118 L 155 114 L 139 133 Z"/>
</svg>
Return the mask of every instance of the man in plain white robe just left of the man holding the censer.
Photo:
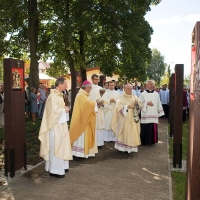
<svg viewBox="0 0 200 200">
<path fill-rule="evenodd" d="M 113 81 L 108 82 L 109 89 L 105 92 L 105 97 L 108 101 L 108 106 L 105 112 L 105 130 L 104 130 L 104 141 L 111 142 L 115 141 L 114 132 L 111 129 L 111 122 L 114 113 L 114 107 L 120 96 L 119 92 L 115 90 L 115 83 Z"/>
</svg>

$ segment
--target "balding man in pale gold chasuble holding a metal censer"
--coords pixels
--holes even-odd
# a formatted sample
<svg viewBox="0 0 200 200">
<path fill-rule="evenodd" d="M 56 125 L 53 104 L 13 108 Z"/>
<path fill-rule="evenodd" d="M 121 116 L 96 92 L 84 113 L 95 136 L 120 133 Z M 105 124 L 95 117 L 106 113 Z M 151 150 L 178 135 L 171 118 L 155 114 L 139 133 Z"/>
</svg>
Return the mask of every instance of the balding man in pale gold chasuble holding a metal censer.
<svg viewBox="0 0 200 200">
<path fill-rule="evenodd" d="M 111 128 L 116 135 L 115 148 L 123 152 L 138 152 L 140 143 L 139 113 L 142 103 L 126 84 L 115 106 Z"/>
</svg>

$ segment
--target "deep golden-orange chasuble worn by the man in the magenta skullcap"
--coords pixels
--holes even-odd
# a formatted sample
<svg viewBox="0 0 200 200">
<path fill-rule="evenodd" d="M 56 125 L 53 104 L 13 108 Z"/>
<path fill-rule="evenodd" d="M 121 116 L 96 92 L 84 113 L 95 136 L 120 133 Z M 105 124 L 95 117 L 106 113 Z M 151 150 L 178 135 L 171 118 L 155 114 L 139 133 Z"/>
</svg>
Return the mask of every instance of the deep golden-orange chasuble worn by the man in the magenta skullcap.
<svg viewBox="0 0 200 200">
<path fill-rule="evenodd" d="M 89 149 L 95 144 L 95 101 L 89 99 L 89 94 L 83 89 L 79 90 L 74 102 L 74 109 L 70 123 L 70 140 L 73 144 L 81 134 L 85 133 L 84 154 L 89 153 Z"/>
</svg>

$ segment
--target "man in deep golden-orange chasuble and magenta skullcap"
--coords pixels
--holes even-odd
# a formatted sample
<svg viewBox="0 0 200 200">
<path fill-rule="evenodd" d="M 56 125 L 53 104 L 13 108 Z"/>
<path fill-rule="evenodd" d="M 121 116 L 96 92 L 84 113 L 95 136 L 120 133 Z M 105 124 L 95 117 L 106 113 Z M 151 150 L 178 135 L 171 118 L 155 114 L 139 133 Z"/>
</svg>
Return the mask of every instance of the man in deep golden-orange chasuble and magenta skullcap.
<svg viewBox="0 0 200 200">
<path fill-rule="evenodd" d="M 84 81 L 74 102 L 69 133 L 72 155 L 76 160 L 79 160 L 79 157 L 88 158 L 98 153 L 95 134 L 98 100 L 90 99 L 91 89 L 91 82 Z"/>
</svg>

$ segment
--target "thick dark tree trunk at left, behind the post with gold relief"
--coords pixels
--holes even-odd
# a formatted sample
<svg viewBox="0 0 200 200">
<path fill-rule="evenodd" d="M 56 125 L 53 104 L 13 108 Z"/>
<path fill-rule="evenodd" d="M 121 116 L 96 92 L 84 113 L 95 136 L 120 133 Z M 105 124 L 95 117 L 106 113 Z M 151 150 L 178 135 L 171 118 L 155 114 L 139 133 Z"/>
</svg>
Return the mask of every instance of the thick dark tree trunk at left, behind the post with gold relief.
<svg viewBox="0 0 200 200">
<path fill-rule="evenodd" d="M 39 87 L 39 70 L 38 70 L 38 14 L 37 0 L 28 0 L 29 14 L 29 41 L 30 41 L 30 73 L 29 87 Z"/>
</svg>

